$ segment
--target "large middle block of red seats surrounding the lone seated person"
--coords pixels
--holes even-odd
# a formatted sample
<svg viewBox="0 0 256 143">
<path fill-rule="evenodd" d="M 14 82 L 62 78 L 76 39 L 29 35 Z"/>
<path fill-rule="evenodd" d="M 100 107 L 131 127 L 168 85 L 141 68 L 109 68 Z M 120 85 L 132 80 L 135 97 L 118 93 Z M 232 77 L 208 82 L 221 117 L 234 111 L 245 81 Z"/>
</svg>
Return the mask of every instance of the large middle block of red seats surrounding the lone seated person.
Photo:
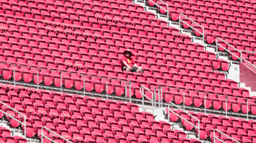
<svg viewBox="0 0 256 143">
<path fill-rule="evenodd" d="M 249 98 L 246 89 L 217 71 L 228 71 L 229 63 L 132 1 L 19 0 L 3 2 L 1 9 L 0 61 L 19 64 L 0 63 L 4 80 L 114 96 L 124 96 L 125 83 L 131 81 L 135 98 L 142 98 L 140 86 L 181 88 L 163 90 L 167 103 L 176 101 L 182 88 Z M 120 59 L 127 48 L 144 73 L 122 72 Z M 192 91 L 186 93 L 190 102 L 202 97 Z"/>
</svg>

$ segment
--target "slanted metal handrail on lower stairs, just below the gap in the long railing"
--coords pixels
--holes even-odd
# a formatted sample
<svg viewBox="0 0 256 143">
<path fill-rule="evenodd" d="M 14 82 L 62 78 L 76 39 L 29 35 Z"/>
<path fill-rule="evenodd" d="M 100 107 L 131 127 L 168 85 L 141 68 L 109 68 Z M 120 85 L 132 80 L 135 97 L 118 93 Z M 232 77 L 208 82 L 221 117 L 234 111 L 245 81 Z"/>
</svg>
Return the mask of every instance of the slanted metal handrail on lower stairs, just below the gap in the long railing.
<svg viewBox="0 0 256 143">
<path fill-rule="evenodd" d="M 171 102 L 170 102 L 170 103 L 171 103 Z M 171 109 L 170 109 L 170 103 L 168 103 L 168 112 L 171 111 Z M 171 103 L 171 105 L 172 105 L 172 106 L 176 106 L 174 103 Z M 195 124 L 192 124 L 190 121 L 187 121 L 187 119 L 184 119 L 184 118 L 183 118 L 182 116 L 180 116 L 179 114 L 176 114 L 174 111 L 171 111 L 171 112 L 172 112 L 173 114 L 175 114 L 176 116 L 179 116 L 179 118 L 184 119 L 184 121 L 187 121 L 187 123 L 189 123 L 189 124 L 191 124 L 192 126 L 194 126 L 195 128 L 197 128 L 197 129 L 198 129 L 198 139 L 200 139 L 200 120 L 197 119 L 195 116 L 192 116 L 191 114 L 187 113 L 187 111 L 185 111 L 185 110 L 179 108 L 179 106 L 176 106 L 176 108 L 178 108 L 178 109 L 184 111 L 184 113 L 188 114 L 189 116 L 191 116 L 192 118 L 194 118 L 194 119 L 196 119 L 196 120 L 198 121 L 198 126 L 195 126 Z M 167 114 L 168 114 L 168 122 L 170 122 L 170 114 L 169 114 L 169 113 L 167 113 Z"/>
</svg>

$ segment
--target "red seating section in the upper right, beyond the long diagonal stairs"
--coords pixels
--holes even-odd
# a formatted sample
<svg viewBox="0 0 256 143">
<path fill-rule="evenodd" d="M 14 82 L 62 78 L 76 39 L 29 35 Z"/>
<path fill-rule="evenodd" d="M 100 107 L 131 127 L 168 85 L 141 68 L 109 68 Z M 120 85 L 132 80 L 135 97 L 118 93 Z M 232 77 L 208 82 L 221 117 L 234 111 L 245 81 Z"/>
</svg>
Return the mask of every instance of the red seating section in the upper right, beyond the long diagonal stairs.
<svg viewBox="0 0 256 143">
<path fill-rule="evenodd" d="M 165 2 L 168 4 L 168 14 L 172 21 L 177 21 L 179 14 L 182 13 L 204 27 L 205 42 L 208 44 L 214 44 L 216 37 L 221 37 L 221 39 L 236 47 L 237 50 L 256 51 L 255 1 L 165 0 Z M 161 1 L 156 1 L 156 3 L 166 9 L 166 5 Z M 148 2 L 148 6 L 154 5 L 155 4 Z M 163 10 L 159 12 L 162 14 L 166 13 L 166 11 Z M 184 17 L 182 17 L 182 19 L 184 19 L 184 22 L 187 24 L 192 25 L 202 32 L 202 28 L 198 27 L 196 24 L 192 24 L 191 21 Z M 187 24 L 182 24 L 182 27 L 188 29 Z M 198 32 L 195 32 L 195 35 L 201 36 Z M 218 41 L 218 43 L 228 50 L 231 50 L 235 55 L 240 55 L 239 52 L 226 45 L 224 42 Z M 222 47 L 218 47 L 218 50 L 224 51 Z M 249 55 L 249 53 L 244 53 L 244 58 L 248 58 L 249 60 Z M 237 60 L 234 56 L 231 56 L 231 58 L 232 60 Z"/>
</svg>

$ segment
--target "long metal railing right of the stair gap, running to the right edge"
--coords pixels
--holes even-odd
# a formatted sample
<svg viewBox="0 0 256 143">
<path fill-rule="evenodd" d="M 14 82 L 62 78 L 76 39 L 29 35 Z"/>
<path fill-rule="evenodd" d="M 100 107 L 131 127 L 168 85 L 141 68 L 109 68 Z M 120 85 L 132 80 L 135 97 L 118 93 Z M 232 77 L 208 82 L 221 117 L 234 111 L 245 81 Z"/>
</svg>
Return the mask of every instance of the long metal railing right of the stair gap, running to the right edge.
<svg viewBox="0 0 256 143">
<path fill-rule="evenodd" d="M 255 67 L 256 68 L 256 67 Z M 157 92 L 156 92 L 156 89 L 158 88 L 158 95 L 157 95 Z M 210 93 L 210 92 L 202 92 L 202 91 L 193 91 L 193 90 L 188 90 L 188 89 L 184 89 L 184 88 L 173 88 L 173 87 L 168 87 L 168 86 L 157 86 L 157 87 L 155 87 L 154 88 L 154 93 L 155 93 L 155 97 L 156 96 L 158 96 L 158 101 L 156 101 L 155 100 L 155 106 L 156 106 L 156 103 L 158 102 L 158 107 L 159 108 L 161 108 L 161 107 L 163 107 L 163 105 L 169 105 L 169 103 L 163 103 L 163 88 L 168 88 L 168 90 L 170 89 L 170 88 L 172 88 L 172 89 L 176 89 L 176 90 L 182 90 L 182 92 L 183 92 L 183 105 L 180 105 L 180 106 L 183 106 L 183 109 L 185 109 L 185 107 L 187 107 L 187 108 L 189 108 L 189 106 L 186 106 L 185 105 L 185 91 L 192 91 L 192 92 L 197 92 L 197 94 L 199 95 L 199 93 L 203 93 L 205 96 L 204 96 L 204 100 L 202 100 L 202 105 L 204 105 L 204 110 L 205 110 L 205 113 L 207 112 L 207 111 L 214 111 L 214 109 L 212 110 L 212 109 L 208 109 L 206 106 L 207 106 L 207 99 L 208 100 L 210 100 L 208 97 L 207 97 L 207 94 L 210 94 L 210 95 L 216 95 L 217 97 L 218 96 L 221 96 L 221 97 L 223 97 L 223 98 L 225 98 L 225 104 L 223 104 L 223 106 L 225 106 L 226 107 L 226 111 L 225 111 L 225 114 L 226 114 L 226 116 L 228 116 L 228 109 L 227 109 L 227 106 L 228 106 L 228 98 L 236 98 L 236 101 L 237 101 L 237 99 L 243 99 L 244 101 L 245 101 L 245 104 L 246 104 L 246 106 L 247 106 L 247 114 L 245 114 L 245 116 L 247 116 L 247 120 L 249 119 L 249 101 L 256 101 L 256 100 L 254 100 L 254 99 L 250 99 L 250 98 L 242 98 L 242 97 L 234 97 L 234 96 L 225 96 L 225 95 L 223 95 L 223 94 L 217 94 L 217 93 Z M 179 95 L 181 95 L 181 94 L 179 94 Z M 202 97 L 202 96 L 201 96 Z M 170 97 L 171 98 L 171 97 Z M 193 97 L 190 97 L 190 98 L 193 98 Z M 200 98 L 199 96 L 198 96 L 198 98 Z M 202 98 L 201 98 L 202 99 Z M 175 100 L 175 99 L 174 99 Z M 223 101 L 224 102 L 224 101 Z M 171 103 L 171 102 L 170 102 Z M 256 103 L 256 102 L 255 102 Z M 245 105 L 244 104 L 244 105 Z M 200 107 L 198 107 L 198 108 L 200 108 Z M 200 109 L 201 110 L 201 109 Z M 242 110 L 242 105 L 241 105 L 241 109 L 240 110 Z M 229 114 L 232 114 L 231 112 L 229 112 Z M 235 114 L 235 112 L 234 112 L 234 114 Z M 239 115 L 241 115 L 241 114 L 239 114 Z"/>
</svg>

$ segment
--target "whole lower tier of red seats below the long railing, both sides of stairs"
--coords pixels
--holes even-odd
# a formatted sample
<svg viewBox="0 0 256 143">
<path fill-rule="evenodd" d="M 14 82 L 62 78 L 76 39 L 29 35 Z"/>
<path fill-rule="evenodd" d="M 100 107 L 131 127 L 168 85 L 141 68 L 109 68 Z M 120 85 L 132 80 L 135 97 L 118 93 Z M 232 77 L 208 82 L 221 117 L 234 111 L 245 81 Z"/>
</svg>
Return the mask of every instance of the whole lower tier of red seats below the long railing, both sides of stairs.
<svg viewBox="0 0 256 143">
<path fill-rule="evenodd" d="M 124 103 L 89 96 L 69 95 L 55 91 L 35 90 L 22 86 L 1 85 L 1 102 L 16 109 L 27 118 L 27 138 L 41 139 L 41 128 L 46 126 L 51 131 L 60 134 L 72 142 L 195 142 L 197 139 L 188 139 L 186 132 L 197 132 L 197 129 L 169 112 L 170 121 L 182 125 L 184 131 L 174 129 L 174 124 L 166 121 L 155 121 L 153 114 L 139 111 L 134 103 Z M 15 114 L 7 106 L 1 110 L 14 115 L 22 121 L 23 117 Z M 182 110 L 174 110 L 184 119 L 198 126 L 197 120 L 187 116 Z M 166 111 L 168 113 L 168 111 Z M 200 139 L 213 141 L 213 130 L 228 134 L 239 142 L 255 142 L 256 121 L 236 119 L 234 117 L 216 116 L 189 111 L 189 114 L 200 119 Z M 1 119 L 9 122 L 12 128 L 21 125 L 1 114 Z M 166 117 L 167 114 L 166 114 Z M 24 130 L 24 126 L 22 128 Z M 0 128 L 0 140 L 4 142 L 26 142 L 22 137 L 12 137 L 9 129 Z M 44 135 L 63 142 L 54 134 L 44 130 Z M 216 137 L 224 142 L 232 142 L 221 134 Z M 1 142 L 1 141 L 0 141 Z M 43 142 L 49 142 L 44 139 Z M 218 142 L 216 140 L 216 142 Z"/>
</svg>

